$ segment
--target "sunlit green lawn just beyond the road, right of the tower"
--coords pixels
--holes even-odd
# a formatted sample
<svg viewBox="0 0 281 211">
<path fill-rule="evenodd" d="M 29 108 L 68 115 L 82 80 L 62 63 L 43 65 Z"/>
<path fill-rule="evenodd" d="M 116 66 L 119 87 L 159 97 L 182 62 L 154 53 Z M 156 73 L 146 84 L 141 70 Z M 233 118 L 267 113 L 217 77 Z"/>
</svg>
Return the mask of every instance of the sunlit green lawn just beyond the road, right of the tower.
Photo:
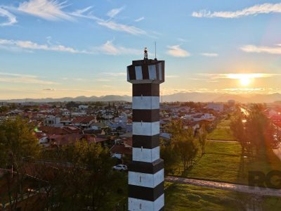
<svg viewBox="0 0 281 211">
<path fill-rule="evenodd" d="M 270 170 L 281 170 L 281 161 L 268 150 L 262 158 L 244 158 L 244 169 L 240 158 L 241 147 L 237 142 L 207 141 L 205 154 L 199 154 L 190 169 L 183 171 L 178 160 L 174 176 L 226 181 L 248 184 L 248 172 L 260 171 L 267 174 Z"/>
</svg>

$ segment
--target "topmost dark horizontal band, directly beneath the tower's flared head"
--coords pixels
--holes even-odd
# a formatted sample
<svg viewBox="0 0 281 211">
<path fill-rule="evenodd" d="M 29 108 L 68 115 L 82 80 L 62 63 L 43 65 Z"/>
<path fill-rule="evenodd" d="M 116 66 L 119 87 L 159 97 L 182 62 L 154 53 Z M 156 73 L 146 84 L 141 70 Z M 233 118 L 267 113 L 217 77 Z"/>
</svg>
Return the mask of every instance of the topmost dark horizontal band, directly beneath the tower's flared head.
<svg viewBox="0 0 281 211">
<path fill-rule="evenodd" d="M 159 96 L 159 84 L 133 84 L 133 96 Z"/>
</svg>

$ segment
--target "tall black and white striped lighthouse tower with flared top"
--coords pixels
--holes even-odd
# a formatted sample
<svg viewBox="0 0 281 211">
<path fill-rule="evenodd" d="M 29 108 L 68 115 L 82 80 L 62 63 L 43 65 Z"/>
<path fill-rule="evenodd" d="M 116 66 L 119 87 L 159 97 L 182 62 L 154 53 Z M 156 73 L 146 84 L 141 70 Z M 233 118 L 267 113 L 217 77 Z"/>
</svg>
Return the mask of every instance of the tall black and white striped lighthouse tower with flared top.
<svg viewBox="0 0 281 211">
<path fill-rule="evenodd" d="M 159 84 L 164 60 L 133 60 L 133 160 L 129 165 L 129 210 L 164 210 L 164 161 L 159 156 Z"/>
</svg>

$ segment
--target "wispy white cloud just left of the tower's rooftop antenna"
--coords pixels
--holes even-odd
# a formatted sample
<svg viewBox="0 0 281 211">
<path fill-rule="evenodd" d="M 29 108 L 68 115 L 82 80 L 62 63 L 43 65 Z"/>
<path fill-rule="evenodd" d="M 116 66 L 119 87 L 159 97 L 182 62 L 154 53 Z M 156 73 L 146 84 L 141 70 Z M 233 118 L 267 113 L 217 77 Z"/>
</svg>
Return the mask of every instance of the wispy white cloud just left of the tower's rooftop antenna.
<svg viewBox="0 0 281 211">
<path fill-rule="evenodd" d="M 129 49 L 124 46 L 116 46 L 113 44 L 113 41 L 108 40 L 102 46 L 98 46 L 94 49 L 94 51 L 98 51 L 100 53 L 105 53 L 108 55 L 121 55 L 121 54 L 134 54 L 139 55 L 141 51 L 136 49 Z"/>
</svg>

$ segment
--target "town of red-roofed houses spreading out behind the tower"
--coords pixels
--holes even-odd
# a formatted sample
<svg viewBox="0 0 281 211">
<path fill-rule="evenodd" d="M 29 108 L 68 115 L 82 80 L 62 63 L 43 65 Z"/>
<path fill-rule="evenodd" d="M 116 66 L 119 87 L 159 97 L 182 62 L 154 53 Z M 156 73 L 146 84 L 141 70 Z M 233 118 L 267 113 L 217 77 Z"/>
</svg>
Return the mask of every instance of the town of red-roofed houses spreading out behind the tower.
<svg viewBox="0 0 281 211">
<path fill-rule="evenodd" d="M 276 104 L 278 105 L 278 104 Z M 216 124 L 233 113 L 237 103 L 162 103 L 160 139 L 169 140 L 167 125 L 182 120 L 194 136 L 204 124 L 211 132 Z M 132 109 L 129 102 L 1 103 L 0 121 L 20 116 L 34 125 L 34 135 L 43 148 L 51 150 L 86 140 L 110 148 L 112 156 L 132 155 Z M 281 131 L 281 106 L 268 106 L 266 116 Z"/>
</svg>

